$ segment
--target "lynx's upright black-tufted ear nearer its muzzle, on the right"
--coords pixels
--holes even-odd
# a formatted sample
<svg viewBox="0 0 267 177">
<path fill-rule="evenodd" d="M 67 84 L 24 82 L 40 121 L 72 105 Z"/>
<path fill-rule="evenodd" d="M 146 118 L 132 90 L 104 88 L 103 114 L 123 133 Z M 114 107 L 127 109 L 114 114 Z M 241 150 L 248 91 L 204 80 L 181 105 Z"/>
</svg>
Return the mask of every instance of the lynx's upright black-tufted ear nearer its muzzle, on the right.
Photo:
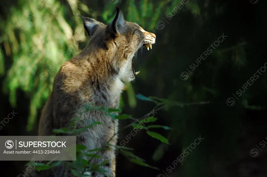
<svg viewBox="0 0 267 177">
<path fill-rule="evenodd" d="M 108 31 L 115 36 L 119 36 L 124 30 L 124 18 L 122 12 L 117 8 L 115 18 L 108 24 Z"/>
</svg>

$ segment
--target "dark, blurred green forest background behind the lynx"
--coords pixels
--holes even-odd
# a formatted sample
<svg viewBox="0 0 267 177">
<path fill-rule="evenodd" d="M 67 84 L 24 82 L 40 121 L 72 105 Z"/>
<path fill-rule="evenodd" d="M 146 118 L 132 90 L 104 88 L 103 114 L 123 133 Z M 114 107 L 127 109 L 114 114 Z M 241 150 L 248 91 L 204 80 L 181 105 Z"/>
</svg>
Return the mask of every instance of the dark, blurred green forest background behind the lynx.
<svg viewBox="0 0 267 177">
<path fill-rule="evenodd" d="M 56 58 L 49 59 L 50 51 L 46 50 L 45 56 L 34 66 L 31 65 L 41 55 L 41 51 L 34 50 L 37 46 L 34 36 L 45 36 L 45 48 L 45 43 L 50 40 L 46 37 L 51 35 L 49 31 L 43 31 L 43 27 L 37 27 L 34 20 L 40 18 L 43 19 L 39 20 L 40 24 L 57 26 L 55 18 L 58 13 L 74 30 L 81 25 L 74 18 L 76 13 L 107 23 L 114 17 L 115 6 L 118 6 L 125 19 L 135 21 L 157 36 L 152 50 L 143 48 L 145 50 L 142 54 L 141 51 L 138 52 L 135 70 L 140 70 L 140 74 L 135 82 L 127 84 L 127 91 L 122 95 L 123 113 L 140 118 L 152 110 L 155 105 L 136 99 L 135 94 L 138 93 L 174 100 L 183 106 L 156 111 L 156 124 L 169 126 L 172 130 L 158 128 L 154 131 L 165 136 L 170 145 L 151 138 L 145 131 L 131 136 L 126 144 L 134 149 L 134 154 L 161 171 L 131 163 L 119 154 L 117 176 L 266 177 L 267 72 L 266 68 L 262 68 L 265 72 L 258 71 L 267 62 L 266 3 L 263 0 L 189 0 L 182 9 L 174 13 L 172 10 L 179 1 L 111 2 L 115 1 L 79 1 L 78 11 L 75 11 L 67 1 L 51 0 L 34 15 L 32 9 L 39 1 L 1 2 L 0 121 L 13 110 L 17 113 L 8 123 L 4 123 L 5 126 L 2 125 L 1 136 L 37 135 L 41 109 L 51 91 L 53 77 L 63 63 L 61 61 L 56 70 L 49 73 L 47 80 L 40 79 L 45 68 L 49 68 Z M 50 3 L 54 5 L 50 6 Z M 81 3 L 89 8 L 88 12 L 81 10 Z M 53 14 L 52 7 L 60 10 Z M 144 12 L 149 8 L 152 11 Z M 32 13 L 31 19 L 26 17 L 28 13 Z M 175 15 L 168 19 L 166 15 L 169 13 Z M 22 17 L 27 22 L 33 22 L 33 25 L 27 26 L 28 23 Z M 21 20 L 25 23 L 23 29 L 18 24 Z M 160 21 L 165 23 L 163 29 Z M 60 38 L 54 39 L 57 41 L 54 49 L 61 55 L 73 42 L 65 39 L 64 30 L 60 28 L 59 31 Z M 196 59 L 223 34 L 227 37 L 197 66 Z M 86 46 L 88 39 L 87 36 L 79 43 L 79 48 L 73 55 Z M 41 49 L 42 45 L 38 50 Z M 194 70 L 190 69 L 193 63 L 197 66 Z M 256 81 L 244 91 L 242 86 L 257 71 L 261 74 L 258 73 Z M 182 80 L 184 77 L 181 79 L 182 72 L 188 73 L 186 80 Z M 241 96 L 236 93 L 239 89 L 243 91 Z M 129 123 L 131 121 L 121 120 L 121 129 Z M 127 142 L 126 136 L 132 129 L 129 127 L 121 130 L 119 142 Z M 192 152 L 189 151 L 189 155 L 181 163 L 174 165 L 174 160 L 199 136 L 204 140 Z M 253 148 L 257 151 L 251 151 Z M 1 176 L 15 177 L 23 174 L 26 162 L 0 163 Z M 170 173 L 170 170 L 166 170 L 169 166 L 174 168 Z"/>
</svg>

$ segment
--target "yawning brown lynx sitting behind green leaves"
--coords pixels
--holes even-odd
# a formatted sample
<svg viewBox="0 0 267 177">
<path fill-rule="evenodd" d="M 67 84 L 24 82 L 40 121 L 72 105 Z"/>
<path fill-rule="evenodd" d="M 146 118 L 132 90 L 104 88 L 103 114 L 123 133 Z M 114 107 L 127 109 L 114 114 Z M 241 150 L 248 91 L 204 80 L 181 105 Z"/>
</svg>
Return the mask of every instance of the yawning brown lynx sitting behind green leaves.
<svg viewBox="0 0 267 177">
<path fill-rule="evenodd" d="M 88 125 L 88 120 L 103 124 L 88 128 L 80 133 L 77 144 L 84 144 L 88 149 L 100 148 L 109 140 L 117 142 L 118 120 L 113 120 L 103 112 L 86 111 L 87 103 L 95 106 L 118 108 L 124 82 L 135 79 L 133 58 L 142 46 L 152 49 L 156 35 L 145 31 L 138 24 L 124 20 L 123 13 L 117 8 L 115 18 L 108 24 L 95 19 L 77 15 L 83 19 L 83 25 L 90 40 L 80 54 L 63 63 L 58 71 L 52 93 L 45 104 L 40 123 L 39 136 L 52 135 L 53 129 L 67 127 L 74 117 L 79 117 L 75 127 Z M 80 113 L 78 113 L 80 112 Z M 82 113 L 82 114 L 81 114 Z M 92 173 L 95 177 L 115 177 L 115 152 L 113 148 L 99 153 L 101 159 L 91 162 L 103 166 L 105 175 Z M 37 173 L 37 172 L 36 172 Z M 32 176 L 70 176 L 64 167 L 57 170 L 38 172 Z"/>
</svg>

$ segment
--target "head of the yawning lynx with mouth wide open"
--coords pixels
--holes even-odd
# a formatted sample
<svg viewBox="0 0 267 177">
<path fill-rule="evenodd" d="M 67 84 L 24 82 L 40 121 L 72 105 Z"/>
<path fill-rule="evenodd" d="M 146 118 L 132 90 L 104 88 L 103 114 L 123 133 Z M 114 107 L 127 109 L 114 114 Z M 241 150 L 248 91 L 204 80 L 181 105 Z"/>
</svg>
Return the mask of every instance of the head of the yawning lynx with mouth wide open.
<svg viewBox="0 0 267 177">
<path fill-rule="evenodd" d="M 103 72 L 113 72 L 123 82 L 134 80 L 139 71 L 135 72 L 133 58 L 142 46 L 152 49 L 156 35 L 136 23 L 125 21 L 118 8 L 115 18 L 108 25 L 92 18 L 79 17 L 83 18 L 84 28 L 91 37 L 85 52 L 95 53 L 97 57 L 91 56 L 96 58 L 95 67 L 100 67 Z"/>
</svg>

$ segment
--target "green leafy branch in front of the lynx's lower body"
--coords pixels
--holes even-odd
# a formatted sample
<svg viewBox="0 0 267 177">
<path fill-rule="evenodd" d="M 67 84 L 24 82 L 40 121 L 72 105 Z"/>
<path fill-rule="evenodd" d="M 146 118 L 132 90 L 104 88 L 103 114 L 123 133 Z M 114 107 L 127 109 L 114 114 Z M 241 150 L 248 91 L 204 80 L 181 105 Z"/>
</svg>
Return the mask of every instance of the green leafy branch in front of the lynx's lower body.
<svg viewBox="0 0 267 177">
<path fill-rule="evenodd" d="M 157 103 L 157 106 L 163 105 L 163 103 Z M 156 110 L 160 110 L 163 107 L 160 107 L 159 109 Z M 142 123 L 143 118 L 147 117 L 148 115 L 150 115 L 150 113 L 142 116 L 139 119 L 135 119 L 133 118 L 131 115 L 128 114 L 120 114 L 121 109 L 118 108 L 107 108 L 107 107 L 98 107 L 95 106 L 93 103 L 88 103 L 85 107 L 83 107 L 84 110 L 86 111 L 100 111 L 100 112 L 104 112 L 105 115 L 111 117 L 112 119 L 118 119 L 118 120 L 125 120 L 125 119 L 132 119 L 134 120 L 134 122 L 131 124 L 131 126 L 133 128 L 136 128 L 140 123 Z M 148 119 L 148 122 L 155 122 L 157 119 L 155 117 L 151 117 Z M 92 120 L 88 120 L 89 125 L 82 127 L 82 128 L 75 128 L 75 123 L 78 121 L 78 118 L 73 118 L 72 122 L 70 123 L 70 125 L 68 127 L 64 127 L 64 128 L 60 128 L 60 129 L 55 129 L 53 130 L 53 132 L 55 134 L 66 134 L 66 135 L 78 135 L 83 131 L 86 131 L 88 128 L 92 128 L 98 125 L 101 125 L 103 123 L 101 122 L 94 122 Z M 139 124 L 136 124 L 139 123 Z M 142 128 L 144 130 L 146 130 L 147 134 L 149 136 L 151 136 L 152 138 L 158 139 L 163 143 L 168 143 L 168 139 L 166 139 L 164 136 L 150 131 L 151 128 L 164 128 L 165 130 L 170 130 L 170 127 L 167 126 L 161 126 L 161 125 L 149 125 L 149 126 L 142 126 Z M 104 161 L 104 163 L 102 164 L 91 164 L 92 160 L 94 158 L 101 158 L 101 156 L 99 156 L 99 153 L 103 150 L 108 150 L 108 147 L 113 147 L 115 149 L 119 149 L 121 154 L 124 155 L 127 159 L 129 159 L 131 162 L 139 164 L 141 166 L 146 166 L 146 167 L 150 167 L 150 168 L 154 168 L 154 169 L 158 169 L 156 167 L 152 167 L 149 164 L 145 163 L 145 160 L 142 158 L 139 158 L 138 156 L 134 155 L 131 151 L 133 149 L 128 148 L 128 147 L 124 147 L 124 146 L 117 146 L 115 147 L 115 145 L 109 144 L 110 141 L 114 138 L 114 136 L 116 136 L 117 134 L 113 134 L 113 136 L 108 140 L 108 142 L 106 142 L 102 147 L 100 148 L 95 148 L 95 149 L 91 149 L 91 150 L 87 150 L 87 147 L 83 144 L 77 144 L 76 145 L 76 161 L 72 161 L 72 162 L 63 162 L 65 163 L 70 169 L 71 172 L 73 173 L 73 175 L 75 176 L 85 176 L 85 172 L 90 171 L 90 172 L 99 172 L 104 174 L 105 171 L 103 171 L 101 169 L 101 166 L 104 166 L 106 163 L 108 163 L 108 161 Z M 122 150 L 123 149 L 123 150 Z M 88 159 L 84 159 L 83 156 L 87 156 Z M 37 170 L 46 170 L 46 169 L 50 169 L 53 168 L 55 166 L 61 165 L 62 161 L 56 162 L 56 163 L 52 163 L 52 161 L 44 164 L 44 163 L 38 163 L 37 164 Z"/>
</svg>

